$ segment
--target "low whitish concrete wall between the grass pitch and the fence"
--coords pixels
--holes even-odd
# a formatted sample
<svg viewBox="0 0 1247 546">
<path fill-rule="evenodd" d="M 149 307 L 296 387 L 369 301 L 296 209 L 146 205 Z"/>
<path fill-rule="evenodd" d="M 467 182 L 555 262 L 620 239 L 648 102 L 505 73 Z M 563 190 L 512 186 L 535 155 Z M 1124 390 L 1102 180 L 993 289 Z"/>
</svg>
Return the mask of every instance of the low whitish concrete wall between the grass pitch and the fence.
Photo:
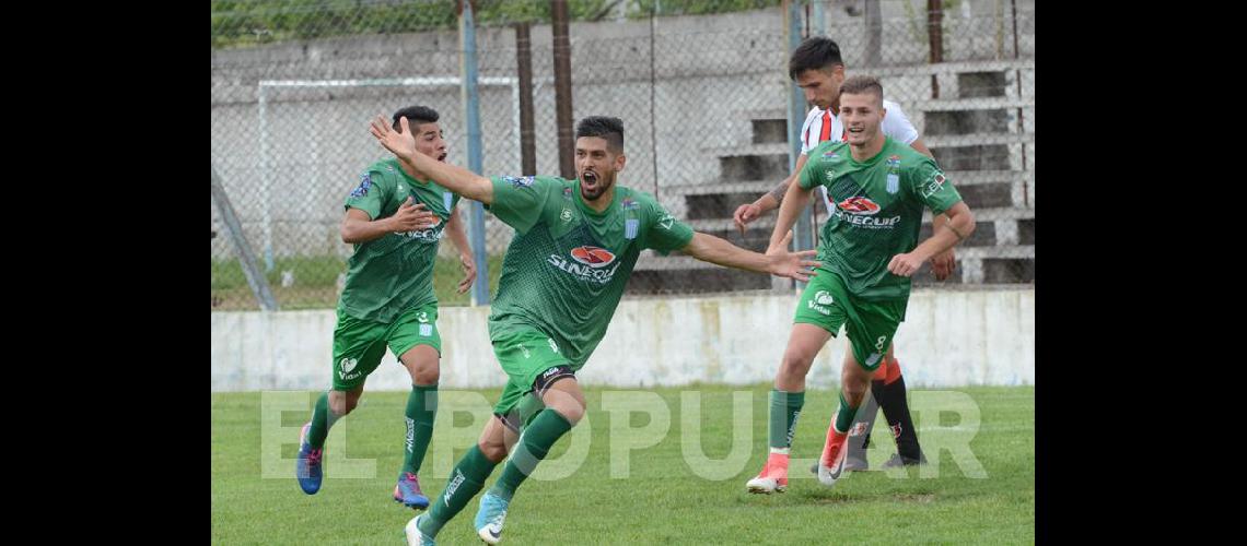
<svg viewBox="0 0 1247 546">
<path fill-rule="evenodd" d="M 626 298 L 579 377 L 590 386 L 769 382 L 783 356 L 796 295 Z M 446 307 L 441 386 L 499 387 L 488 307 Z M 213 312 L 212 391 L 324 389 L 333 311 Z M 838 382 L 843 335 L 819 352 L 812 387 Z M 912 387 L 1035 383 L 1035 290 L 918 290 L 897 335 Z M 370 391 L 407 391 L 407 371 L 387 353 Z"/>
</svg>

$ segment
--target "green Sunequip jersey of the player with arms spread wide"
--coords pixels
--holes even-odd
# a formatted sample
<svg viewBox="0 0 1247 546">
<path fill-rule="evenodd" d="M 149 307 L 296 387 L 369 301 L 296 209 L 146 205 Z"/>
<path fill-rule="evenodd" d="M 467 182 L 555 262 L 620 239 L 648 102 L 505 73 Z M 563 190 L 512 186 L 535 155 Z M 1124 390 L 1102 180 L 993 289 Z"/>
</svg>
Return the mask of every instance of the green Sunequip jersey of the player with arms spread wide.
<svg viewBox="0 0 1247 546">
<path fill-rule="evenodd" d="M 580 184 L 557 177 L 495 177 L 490 211 L 515 238 L 503 259 L 489 335 L 537 328 L 579 369 L 606 335 L 641 250 L 688 245 L 693 231 L 655 198 L 615 187 L 602 213 Z"/>
</svg>

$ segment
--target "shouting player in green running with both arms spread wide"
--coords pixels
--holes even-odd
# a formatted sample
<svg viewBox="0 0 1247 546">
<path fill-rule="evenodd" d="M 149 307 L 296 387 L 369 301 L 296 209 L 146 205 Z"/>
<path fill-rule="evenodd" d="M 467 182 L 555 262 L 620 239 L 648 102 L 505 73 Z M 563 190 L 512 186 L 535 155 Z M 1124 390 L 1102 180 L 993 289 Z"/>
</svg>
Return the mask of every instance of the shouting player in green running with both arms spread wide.
<svg viewBox="0 0 1247 546">
<path fill-rule="evenodd" d="M 486 204 L 515 228 L 489 316 L 494 354 L 509 382 L 494 407 L 496 418 L 455 464 L 445 493 L 428 514 L 408 522 L 408 544 L 431 544 L 514 447 L 501 476 L 481 496 L 474 521 L 485 542 L 501 539 L 516 488 L 585 413 L 575 373 L 606 333 L 641 250 L 680 250 L 712 264 L 803 281 L 818 265 L 808 260 L 814 251 L 762 255 L 695 233 L 650 194 L 616 187 L 626 162 L 624 122 L 617 118 L 589 117 L 576 126 L 577 180 L 489 179 L 421 157 L 410 133 L 392 131 L 383 118 L 373 122 L 372 132 L 403 163 Z M 791 239 L 792 234 L 783 238 Z"/>
</svg>

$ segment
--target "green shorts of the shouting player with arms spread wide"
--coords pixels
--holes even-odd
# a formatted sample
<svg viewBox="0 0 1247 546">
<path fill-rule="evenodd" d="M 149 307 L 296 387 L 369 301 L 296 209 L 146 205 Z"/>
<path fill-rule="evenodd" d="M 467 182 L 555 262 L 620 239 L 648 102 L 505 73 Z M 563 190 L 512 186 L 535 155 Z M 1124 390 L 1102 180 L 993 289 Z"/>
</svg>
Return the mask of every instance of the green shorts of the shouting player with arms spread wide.
<svg viewBox="0 0 1247 546">
<path fill-rule="evenodd" d="M 521 423 L 545 407 L 534 387 L 540 389 L 561 377 L 575 377 L 572 363 L 559 351 L 559 343 L 535 328 L 498 336 L 494 356 L 508 376 L 494 414 L 513 430 L 519 430 Z"/>
</svg>

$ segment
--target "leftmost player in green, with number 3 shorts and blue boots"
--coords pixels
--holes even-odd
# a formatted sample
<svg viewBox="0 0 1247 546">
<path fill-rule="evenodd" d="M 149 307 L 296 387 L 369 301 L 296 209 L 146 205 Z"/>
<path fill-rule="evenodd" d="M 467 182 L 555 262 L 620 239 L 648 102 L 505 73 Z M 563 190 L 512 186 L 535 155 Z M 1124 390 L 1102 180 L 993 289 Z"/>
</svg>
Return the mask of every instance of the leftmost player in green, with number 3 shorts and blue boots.
<svg viewBox="0 0 1247 546">
<path fill-rule="evenodd" d="M 446 158 L 446 143 L 438 112 L 414 106 L 394 113 L 414 119 L 403 131 L 418 153 L 429 160 Z M 354 243 L 347 284 L 338 300 L 338 325 L 333 331 L 333 388 L 322 394 L 303 425 L 296 478 L 308 495 L 320 490 L 322 455 L 329 427 L 355 409 L 364 381 L 377 369 L 385 346 L 412 374 L 407 398 L 407 439 L 394 500 L 414 509 L 429 506 L 416 473 L 433 437 L 438 413 L 438 377 L 441 337 L 438 335 L 438 297 L 433 291 L 433 265 L 438 241 L 449 235 L 459 250 L 466 276 L 463 294 L 476 279 L 471 249 L 463 221 L 455 214 L 459 195 L 395 159 L 377 162 L 347 197 L 342 240 Z"/>
</svg>

